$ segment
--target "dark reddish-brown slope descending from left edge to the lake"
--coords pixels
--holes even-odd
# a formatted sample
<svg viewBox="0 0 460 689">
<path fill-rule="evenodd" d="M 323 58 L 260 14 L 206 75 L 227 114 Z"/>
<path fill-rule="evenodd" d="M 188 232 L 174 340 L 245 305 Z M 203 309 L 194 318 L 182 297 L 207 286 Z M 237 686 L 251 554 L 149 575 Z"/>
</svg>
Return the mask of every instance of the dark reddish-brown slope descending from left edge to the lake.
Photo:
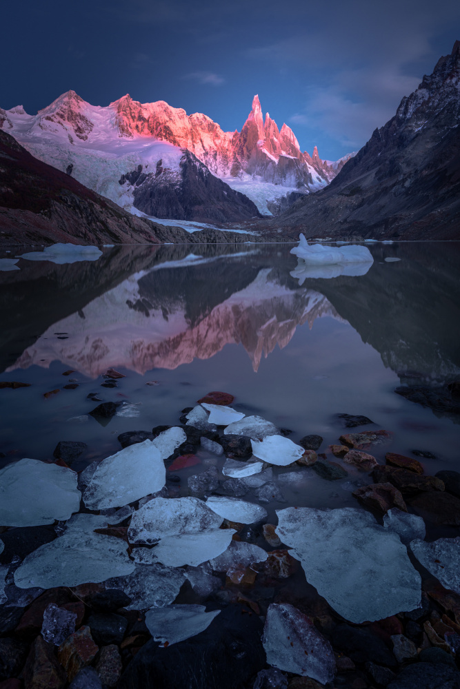
<svg viewBox="0 0 460 689">
<path fill-rule="evenodd" d="M 124 211 L 69 174 L 28 153 L 0 130 L 0 244 L 160 244 L 244 241 L 254 236 L 205 229 L 190 234 Z"/>
</svg>

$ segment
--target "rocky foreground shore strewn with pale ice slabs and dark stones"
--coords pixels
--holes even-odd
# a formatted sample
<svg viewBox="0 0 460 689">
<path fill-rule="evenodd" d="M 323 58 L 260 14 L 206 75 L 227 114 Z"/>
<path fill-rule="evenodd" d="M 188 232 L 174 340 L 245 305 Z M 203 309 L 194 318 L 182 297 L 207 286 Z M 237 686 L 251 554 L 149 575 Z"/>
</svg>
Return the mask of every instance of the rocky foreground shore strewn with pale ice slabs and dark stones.
<svg viewBox="0 0 460 689">
<path fill-rule="evenodd" d="M 81 442 L 0 471 L 1 689 L 459 688 L 460 474 L 364 416 L 321 452 L 233 399 L 122 433 L 78 477 Z M 357 508 L 286 508 L 312 475 L 361 484 Z"/>
</svg>

